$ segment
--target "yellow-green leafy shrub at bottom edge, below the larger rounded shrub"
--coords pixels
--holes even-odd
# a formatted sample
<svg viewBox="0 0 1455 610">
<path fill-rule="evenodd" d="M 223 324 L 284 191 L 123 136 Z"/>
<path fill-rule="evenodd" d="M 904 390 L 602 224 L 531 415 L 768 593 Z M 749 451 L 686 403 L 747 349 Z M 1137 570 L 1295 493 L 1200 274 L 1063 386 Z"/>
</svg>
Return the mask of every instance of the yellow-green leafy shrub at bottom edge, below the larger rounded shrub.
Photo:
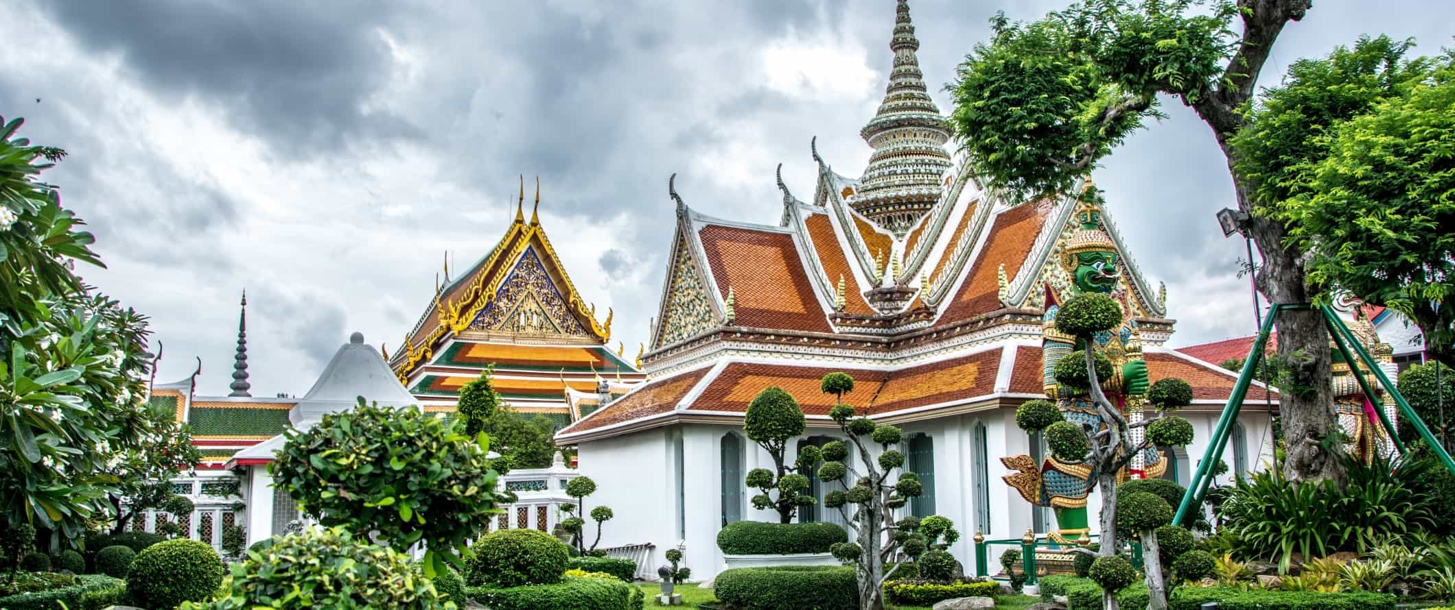
<svg viewBox="0 0 1455 610">
<path fill-rule="evenodd" d="M 436 572 L 448 578 L 445 574 L 448 569 Z M 233 565 L 231 587 L 224 595 L 185 604 L 182 610 L 258 607 L 442 610 L 447 606 L 435 584 L 415 572 L 407 555 L 354 537 L 342 527 L 310 527 L 249 553 Z"/>
</svg>

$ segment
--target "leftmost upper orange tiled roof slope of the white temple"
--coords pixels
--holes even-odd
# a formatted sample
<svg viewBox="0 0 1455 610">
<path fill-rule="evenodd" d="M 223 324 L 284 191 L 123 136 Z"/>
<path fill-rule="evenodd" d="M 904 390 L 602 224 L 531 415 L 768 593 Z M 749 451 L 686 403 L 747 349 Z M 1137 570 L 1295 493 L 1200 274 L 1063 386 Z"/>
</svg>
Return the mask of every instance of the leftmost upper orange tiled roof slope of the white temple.
<svg viewBox="0 0 1455 610">
<path fill-rule="evenodd" d="M 735 325 L 832 330 L 792 235 L 722 225 L 703 227 L 698 235 L 719 295 L 728 298 L 732 286 Z"/>
</svg>

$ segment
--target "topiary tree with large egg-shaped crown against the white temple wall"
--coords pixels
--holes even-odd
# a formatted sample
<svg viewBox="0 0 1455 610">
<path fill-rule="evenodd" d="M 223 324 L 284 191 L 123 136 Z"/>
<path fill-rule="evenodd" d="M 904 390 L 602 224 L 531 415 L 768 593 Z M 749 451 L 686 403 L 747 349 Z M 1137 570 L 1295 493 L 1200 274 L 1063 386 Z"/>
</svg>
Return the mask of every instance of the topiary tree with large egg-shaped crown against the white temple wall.
<svg viewBox="0 0 1455 610">
<path fill-rule="evenodd" d="M 819 462 L 819 449 L 808 444 L 799 450 L 790 466 L 786 460 L 789 440 L 803 434 L 803 410 L 799 401 L 783 388 L 764 388 L 748 404 L 742 418 L 742 431 L 773 456 L 774 471 L 754 468 L 744 479 L 748 487 L 762 492 L 752 497 L 752 507 L 778 511 L 778 523 L 792 523 L 799 507 L 813 504 L 809 489 L 809 472 Z"/>
</svg>

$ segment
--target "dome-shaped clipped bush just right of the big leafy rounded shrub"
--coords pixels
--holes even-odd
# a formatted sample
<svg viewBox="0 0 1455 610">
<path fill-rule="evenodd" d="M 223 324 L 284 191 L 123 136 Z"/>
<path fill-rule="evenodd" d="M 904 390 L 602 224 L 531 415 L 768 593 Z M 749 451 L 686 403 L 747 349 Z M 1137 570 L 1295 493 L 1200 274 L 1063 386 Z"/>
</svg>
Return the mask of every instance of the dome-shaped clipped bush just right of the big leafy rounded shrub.
<svg viewBox="0 0 1455 610">
<path fill-rule="evenodd" d="M 498 530 L 470 546 L 466 582 L 496 588 L 556 584 L 566 572 L 570 555 L 566 543 L 546 532 Z"/>
</svg>

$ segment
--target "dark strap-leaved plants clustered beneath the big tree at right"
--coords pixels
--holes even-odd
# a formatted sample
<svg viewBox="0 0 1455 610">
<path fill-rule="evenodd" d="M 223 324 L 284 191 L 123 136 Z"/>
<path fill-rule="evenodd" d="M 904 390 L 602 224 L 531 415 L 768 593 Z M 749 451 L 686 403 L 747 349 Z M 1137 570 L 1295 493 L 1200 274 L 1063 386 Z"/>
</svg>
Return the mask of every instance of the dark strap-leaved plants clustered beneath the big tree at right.
<svg viewBox="0 0 1455 610">
<path fill-rule="evenodd" d="M 1365 466 L 1346 458 L 1347 482 L 1304 482 L 1296 488 L 1280 472 L 1254 472 L 1235 482 L 1219 517 L 1247 559 L 1277 561 L 1286 572 L 1293 553 L 1328 556 L 1365 552 L 1382 536 L 1401 536 L 1433 526 L 1419 481 L 1436 465 L 1407 460 L 1392 469 L 1384 459 Z M 1446 507 L 1448 510 L 1448 507 Z M 1339 518 L 1308 518 L 1331 514 Z"/>
</svg>

